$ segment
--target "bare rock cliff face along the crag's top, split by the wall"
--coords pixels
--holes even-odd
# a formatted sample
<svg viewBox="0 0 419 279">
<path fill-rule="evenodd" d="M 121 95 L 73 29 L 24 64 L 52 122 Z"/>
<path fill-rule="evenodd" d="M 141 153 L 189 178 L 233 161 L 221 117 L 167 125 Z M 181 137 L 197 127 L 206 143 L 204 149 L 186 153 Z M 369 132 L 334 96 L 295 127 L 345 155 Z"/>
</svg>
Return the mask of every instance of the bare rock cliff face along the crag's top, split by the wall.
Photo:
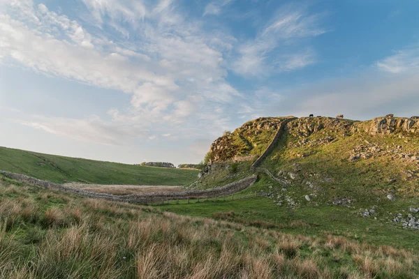
<svg viewBox="0 0 419 279">
<path fill-rule="evenodd" d="M 266 149 L 282 121 L 288 117 L 262 117 L 244 123 L 233 133 L 216 139 L 210 147 L 213 162 L 253 160 Z M 368 121 L 352 121 L 331 117 L 302 117 L 288 122 L 286 133 L 307 144 L 307 137 L 318 135 L 310 144 L 328 144 L 339 137 L 354 134 L 391 135 L 419 134 L 419 119 L 378 117 Z"/>
</svg>

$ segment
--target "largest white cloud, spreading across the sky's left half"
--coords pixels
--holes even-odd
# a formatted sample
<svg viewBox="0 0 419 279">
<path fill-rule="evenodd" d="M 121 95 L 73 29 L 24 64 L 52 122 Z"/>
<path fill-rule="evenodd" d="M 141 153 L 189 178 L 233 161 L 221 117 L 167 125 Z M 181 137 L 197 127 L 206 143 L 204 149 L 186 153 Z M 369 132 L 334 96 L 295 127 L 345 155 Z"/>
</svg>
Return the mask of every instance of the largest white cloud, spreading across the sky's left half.
<svg viewBox="0 0 419 279">
<path fill-rule="evenodd" d="M 159 1 L 149 9 L 150 20 L 142 22 L 143 28 L 138 29 L 139 44 L 129 48 L 103 35 L 92 36 L 79 22 L 43 4 L 30 3 L 27 1 L 23 8 L 13 7 L 10 15 L 0 15 L 0 57 L 6 63 L 45 75 L 131 94 L 130 110 L 124 114 L 112 111 L 115 121 L 135 123 L 142 119 L 147 123 L 170 118 L 180 123 L 199 103 L 226 103 L 240 96 L 225 80 L 227 71 L 221 51 L 226 46 L 214 44 L 212 36 L 196 24 L 184 22 L 172 1 Z M 85 3 L 102 21 L 107 16 L 115 21 L 126 17 L 130 22 L 135 20 L 131 1 Z M 28 13 L 37 19 L 36 24 L 23 20 Z M 197 94 L 202 97 L 190 98 Z"/>
</svg>

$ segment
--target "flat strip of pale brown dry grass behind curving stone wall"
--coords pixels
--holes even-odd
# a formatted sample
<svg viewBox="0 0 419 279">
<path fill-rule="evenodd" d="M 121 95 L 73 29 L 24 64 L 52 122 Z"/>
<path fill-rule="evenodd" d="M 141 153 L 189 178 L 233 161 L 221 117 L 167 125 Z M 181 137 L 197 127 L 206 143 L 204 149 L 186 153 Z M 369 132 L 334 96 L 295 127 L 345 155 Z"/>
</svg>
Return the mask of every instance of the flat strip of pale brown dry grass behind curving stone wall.
<svg viewBox="0 0 419 279">
<path fill-rule="evenodd" d="M 96 193 L 106 193 L 112 195 L 131 195 L 160 192 L 179 192 L 181 186 L 149 186 L 149 185 L 101 185 L 84 183 L 65 183 L 64 186 L 88 190 Z"/>
</svg>

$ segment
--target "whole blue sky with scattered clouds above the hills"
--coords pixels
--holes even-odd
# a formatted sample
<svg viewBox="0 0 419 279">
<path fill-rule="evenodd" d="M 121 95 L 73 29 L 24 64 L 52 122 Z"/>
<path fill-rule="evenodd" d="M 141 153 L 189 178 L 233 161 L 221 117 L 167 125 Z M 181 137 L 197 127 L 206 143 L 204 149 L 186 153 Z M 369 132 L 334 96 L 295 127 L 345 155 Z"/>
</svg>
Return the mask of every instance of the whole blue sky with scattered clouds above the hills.
<svg viewBox="0 0 419 279">
<path fill-rule="evenodd" d="M 260 116 L 418 108 L 417 0 L 0 0 L 0 146 L 177 165 Z"/>
</svg>

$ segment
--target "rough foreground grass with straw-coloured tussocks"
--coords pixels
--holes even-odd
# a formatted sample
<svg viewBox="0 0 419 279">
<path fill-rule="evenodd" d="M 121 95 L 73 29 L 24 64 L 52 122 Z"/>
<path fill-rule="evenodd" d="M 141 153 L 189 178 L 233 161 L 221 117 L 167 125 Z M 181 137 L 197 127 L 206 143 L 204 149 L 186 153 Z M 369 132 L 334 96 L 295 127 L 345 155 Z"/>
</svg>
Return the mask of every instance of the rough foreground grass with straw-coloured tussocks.
<svg viewBox="0 0 419 279">
<path fill-rule="evenodd" d="M 190 204 L 194 205 L 194 204 Z M 416 278 L 416 252 L 0 180 L 0 278 Z M 304 222 L 293 227 L 304 229 Z"/>
</svg>

